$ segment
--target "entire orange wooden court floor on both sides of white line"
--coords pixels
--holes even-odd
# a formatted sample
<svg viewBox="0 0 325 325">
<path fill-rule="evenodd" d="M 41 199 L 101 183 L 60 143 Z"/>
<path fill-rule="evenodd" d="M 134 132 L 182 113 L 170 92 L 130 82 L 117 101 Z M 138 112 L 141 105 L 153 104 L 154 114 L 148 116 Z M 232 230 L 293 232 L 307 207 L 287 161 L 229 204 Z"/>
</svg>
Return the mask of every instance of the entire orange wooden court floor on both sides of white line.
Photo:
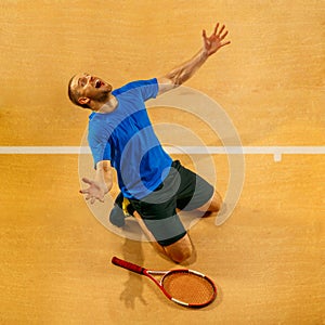
<svg viewBox="0 0 325 325">
<path fill-rule="evenodd" d="M 217 20 L 232 44 L 186 86 L 227 112 L 243 146 L 324 146 L 322 1 L 4 0 L 0 10 L 0 146 L 80 145 L 89 112 L 68 102 L 74 74 L 115 87 L 164 75 Z M 191 114 L 160 107 L 151 117 L 222 145 Z M 211 157 L 224 194 L 226 156 Z M 185 155 L 173 158 L 192 167 Z M 78 164 L 76 154 L 0 155 L 1 324 L 324 324 L 324 155 L 245 155 L 231 218 L 190 230 L 195 256 L 184 266 L 219 288 L 213 304 L 194 311 L 110 264 L 116 255 L 176 266 L 94 218 L 78 193 Z"/>
</svg>

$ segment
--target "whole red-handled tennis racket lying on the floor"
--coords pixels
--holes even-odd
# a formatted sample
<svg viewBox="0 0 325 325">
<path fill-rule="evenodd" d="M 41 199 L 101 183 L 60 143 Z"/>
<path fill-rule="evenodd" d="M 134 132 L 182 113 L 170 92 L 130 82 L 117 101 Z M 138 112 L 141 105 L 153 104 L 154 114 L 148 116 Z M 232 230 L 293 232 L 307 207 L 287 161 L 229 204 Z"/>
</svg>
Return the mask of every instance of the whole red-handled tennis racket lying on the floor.
<svg viewBox="0 0 325 325">
<path fill-rule="evenodd" d="M 112 259 L 112 263 L 147 276 L 160 288 L 168 299 L 183 307 L 206 307 L 217 297 L 217 288 L 213 282 L 206 275 L 193 270 L 146 270 L 117 257 Z M 157 281 L 154 275 L 160 275 L 162 277 L 160 281 Z"/>
</svg>

